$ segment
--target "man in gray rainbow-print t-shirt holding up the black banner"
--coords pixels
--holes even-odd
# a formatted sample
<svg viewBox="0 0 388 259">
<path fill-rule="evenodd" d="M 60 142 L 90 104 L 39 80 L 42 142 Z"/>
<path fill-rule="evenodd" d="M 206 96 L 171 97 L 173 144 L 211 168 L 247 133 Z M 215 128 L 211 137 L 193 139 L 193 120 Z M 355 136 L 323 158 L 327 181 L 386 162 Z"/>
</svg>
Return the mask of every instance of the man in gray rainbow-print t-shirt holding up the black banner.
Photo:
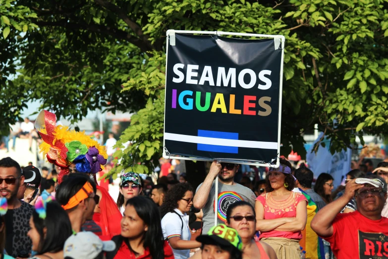
<svg viewBox="0 0 388 259">
<path fill-rule="evenodd" d="M 238 168 L 239 165 L 234 163 L 213 161 L 205 181 L 198 186 L 193 204 L 195 208 L 203 209 L 203 233 L 207 233 L 214 226 L 215 178 L 217 176 L 219 176 L 218 224 L 225 223 L 227 208 L 236 201 L 245 200 L 255 206 L 256 195 L 252 190 L 234 182 Z"/>
</svg>

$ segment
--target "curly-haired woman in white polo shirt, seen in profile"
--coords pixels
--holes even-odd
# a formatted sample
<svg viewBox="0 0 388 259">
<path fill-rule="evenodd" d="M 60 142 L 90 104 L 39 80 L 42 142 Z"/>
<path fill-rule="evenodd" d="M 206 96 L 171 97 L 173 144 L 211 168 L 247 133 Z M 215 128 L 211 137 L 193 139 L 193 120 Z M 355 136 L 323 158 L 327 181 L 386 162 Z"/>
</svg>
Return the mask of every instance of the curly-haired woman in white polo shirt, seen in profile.
<svg viewBox="0 0 388 259">
<path fill-rule="evenodd" d="M 175 259 L 186 259 L 190 249 L 201 243 L 191 241 L 189 216 L 193 206 L 193 188 L 189 183 L 177 184 L 166 194 L 161 206 L 163 237 L 173 249 Z"/>
</svg>

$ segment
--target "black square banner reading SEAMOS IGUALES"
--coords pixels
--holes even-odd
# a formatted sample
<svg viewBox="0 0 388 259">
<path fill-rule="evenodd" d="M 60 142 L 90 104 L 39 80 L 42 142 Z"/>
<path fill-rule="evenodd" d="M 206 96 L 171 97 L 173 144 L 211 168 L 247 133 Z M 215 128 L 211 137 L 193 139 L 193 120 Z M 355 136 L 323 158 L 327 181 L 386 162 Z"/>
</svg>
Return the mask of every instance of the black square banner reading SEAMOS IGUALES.
<svg viewBox="0 0 388 259">
<path fill-rule="evenodd" d="M 274 39 L 174 37 L 167 47 L 166 154 L 276 158 L 281 47 Z"/>
</svg>

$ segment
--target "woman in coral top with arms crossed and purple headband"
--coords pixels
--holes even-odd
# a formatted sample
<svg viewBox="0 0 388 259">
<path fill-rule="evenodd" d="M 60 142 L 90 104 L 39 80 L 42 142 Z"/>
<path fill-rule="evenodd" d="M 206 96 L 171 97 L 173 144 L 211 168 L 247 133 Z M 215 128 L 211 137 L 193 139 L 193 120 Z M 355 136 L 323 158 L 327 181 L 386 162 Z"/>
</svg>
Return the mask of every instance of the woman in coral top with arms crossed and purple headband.
<svg viewBox="0 0 388 259">
<path fill-rule="evenodd" d="M 256 198 L 256 230 L 260 240 L 270 245 L 279 259 L 300 258 L 301 230 L 307 222 L 307 199 L 292 192 L 291 164 L 280 158 L 279 167 L 270 168 L 266 194 Z"/>
</svg>

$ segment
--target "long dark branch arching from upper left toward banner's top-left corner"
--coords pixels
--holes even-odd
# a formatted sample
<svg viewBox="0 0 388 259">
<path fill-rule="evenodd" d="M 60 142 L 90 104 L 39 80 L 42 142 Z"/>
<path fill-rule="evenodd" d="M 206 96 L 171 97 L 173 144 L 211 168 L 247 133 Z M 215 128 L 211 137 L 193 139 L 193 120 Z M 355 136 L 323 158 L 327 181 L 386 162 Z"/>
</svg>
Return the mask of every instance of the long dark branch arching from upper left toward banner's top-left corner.
<svg viewBox="0 0 388 259">
<path fill-rule="evenodd" d="M 97 24 L 87 24 L 87 23 L 73 23 L 73 22 L 68 22 L 68 19 L 62 19 L 59 21 L 55 22 L 49 22 L 49 21 L 37 21 L 35 22 L 38 26 L 58 26 L 58 27 L 63 27 L 63 28 L 70 28 L 74 30 L 88 30 L 88 31 L 93 31 L 93 32 L 98 32 L 98 33 L 103 33 L 110 35 L 112 37 L 115 37 L 120 40 L 127 41 L 129 43 L 132 43 L 133 45 L 137 46 L 140 48 L 141 51 L 146 52 L 150 51 L 152 49 L 149 49 L 145 44 L 144 41 L 142 41 L 139 38 L 136 38 L 129 33 L 126 33 L 124 31 L 118 30 L 116 28 L 112 27 L 106 27 L 103 25 L 97 25 Z"/>
</svg>

